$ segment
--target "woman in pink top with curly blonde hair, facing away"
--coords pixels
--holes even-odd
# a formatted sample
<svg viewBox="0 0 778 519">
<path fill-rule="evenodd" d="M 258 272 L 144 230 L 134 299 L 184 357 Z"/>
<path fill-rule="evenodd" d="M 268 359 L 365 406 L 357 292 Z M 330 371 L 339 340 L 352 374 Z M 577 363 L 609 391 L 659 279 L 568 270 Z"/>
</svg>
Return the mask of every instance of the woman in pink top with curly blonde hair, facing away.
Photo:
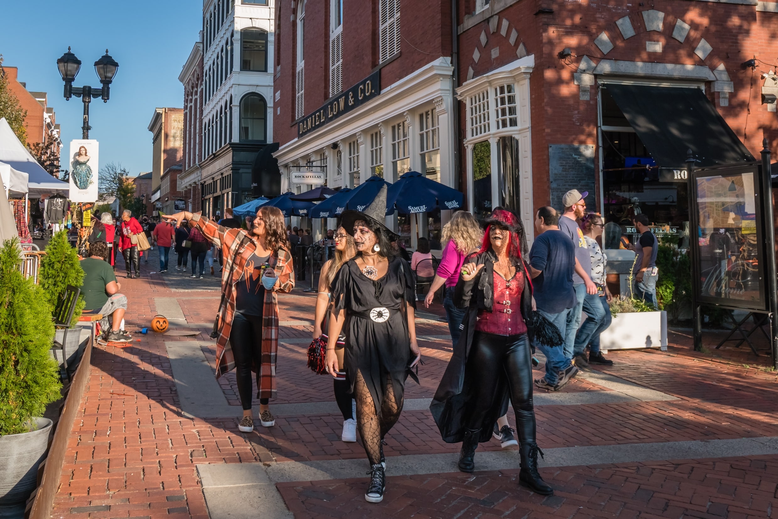
<svg viewBox="0 0 778 519">
<path fill-rule="evenodd" d="M 433 284 L 424 298 L 424 306 L 429 308 L 436 291 L 445 284 L 446 296 L 443 298 L 443 307 L 446 309 L 448 330 L 454 345 L 457 345 L 459 340 L 459 325 L 462 324 L 466 311 L 454 306 L 454 286 L 457 286 L 459 281 L 464 257 L 481 247 L 482 237 L 483 231 L 478 225 L 478 220 L 467 211 L 455 212 L 440 232 L 440 241 L 446 245 L 443 247 L 443 256 L 440 258 Z"/>
</svg>

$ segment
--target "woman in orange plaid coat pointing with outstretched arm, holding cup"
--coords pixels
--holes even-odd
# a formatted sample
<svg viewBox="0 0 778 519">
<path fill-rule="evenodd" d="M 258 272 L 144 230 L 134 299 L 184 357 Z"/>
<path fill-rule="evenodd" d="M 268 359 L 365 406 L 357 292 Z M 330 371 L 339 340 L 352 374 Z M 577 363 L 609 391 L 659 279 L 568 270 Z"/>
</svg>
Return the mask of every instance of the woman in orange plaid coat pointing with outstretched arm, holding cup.
<svg viewBox="0 0 778 519">
<path fill-rule="evenodd" d="M 254 430 L 251 414 L 252 375 L 257 377 L 259 419 L 275 425 L 268 406 L 275 398 L 275 359 L 279 349 L 277 293 L 294 288 L 294 268 L 282 212 L 261 207 L 250 231 L 228 229 L 198 213 L 178 212 L 165 219 L 180 226 L 186 219 L 220 248 L 224 258 L 222 303 L 216 341 L 216 378 L 236 368 L 238 393 L 244 416 L 238 428 Z"/>
</svg>

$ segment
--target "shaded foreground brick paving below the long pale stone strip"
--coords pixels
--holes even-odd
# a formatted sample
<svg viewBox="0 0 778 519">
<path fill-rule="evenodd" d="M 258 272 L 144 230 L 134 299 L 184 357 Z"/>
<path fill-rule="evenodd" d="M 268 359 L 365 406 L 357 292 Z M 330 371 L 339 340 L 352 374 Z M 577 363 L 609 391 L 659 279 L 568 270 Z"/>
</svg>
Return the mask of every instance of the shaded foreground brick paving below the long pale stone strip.
<svg viewBox="0 0 778 519">
<path fill-rule="evenodd" d="M 774 517 L 778 457 L 541 469 L 553 496 L 518 484 L 518 470 L 398 476 L 384 502 L 364 480 L 278 483 L 299 517 Z"/>
</svg>

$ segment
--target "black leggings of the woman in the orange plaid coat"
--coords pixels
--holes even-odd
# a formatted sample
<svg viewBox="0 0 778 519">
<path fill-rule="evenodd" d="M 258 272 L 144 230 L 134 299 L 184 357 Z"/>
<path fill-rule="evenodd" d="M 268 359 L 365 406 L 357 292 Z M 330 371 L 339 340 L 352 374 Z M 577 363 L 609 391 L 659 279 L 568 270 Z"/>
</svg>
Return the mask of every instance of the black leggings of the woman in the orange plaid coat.
<svg viewBox="0 0 778 519">
<path fill-rule="evenodd" d="M 233 314 L 233 328 L 230 330 L 230 345 L 235 359 L 235 373 L 237 375 L 238 394 L 240 405 L 244 411 L 251 409 L 251 361 L 259 367 L 262 363 L 262 316 L 244 315 L 240 312 Z M 257 373 L 257 387 L 259 387 L 259 373 Z M 268 398 L 260 398 L 261 405 L 267 405 Z"/>
</svg>

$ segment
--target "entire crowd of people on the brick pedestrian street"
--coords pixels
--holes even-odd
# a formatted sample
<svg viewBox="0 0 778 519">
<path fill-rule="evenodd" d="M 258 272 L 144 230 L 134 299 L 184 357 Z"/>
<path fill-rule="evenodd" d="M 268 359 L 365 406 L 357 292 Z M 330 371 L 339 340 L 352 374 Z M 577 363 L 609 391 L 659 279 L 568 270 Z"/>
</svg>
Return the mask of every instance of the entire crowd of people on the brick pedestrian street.
<svg viewBox="0 0 778 519">
<path fill-rule="evenodd" d="M 419 237 L 411 256 L 385 225 L 385 187 L 365 209 L 345 211 L 341 225 L 328 230 L 334 253 L 321 267 L 308 362 L 333 378 L 342 441 L 355 442 L 357 431 L 362 438 L 370 463 L 367 501 L 383 499 L 384 438 L 401 415 L 406 380 L 418 382 L 422 355 L 415 311 L 422 286 L 429 287 L 425 307 L 443 292 L 454 349 L 430 411 L 443 440 L 461 443 L 460 470 L 474 471 L 478 444 L 493 437 L 503 448 L 519 446 L 522 484 L 541 495 L 553 493 L 538 472 L 542 451 L 533 389 L 559 391 L 590 364 L 612 365 L 600 342 L 611 323 L 612 300 L 601 246 L 605 222 L 586 212 L 586 196 L 567 192 L 561 213 L 538 209 L 531 247 L 521 220 L 507 209 L 496 207 L 482 223 L 469 212 L 455 212 L 441 230 L 438 265 L 429 240 Z M 655 305 L 658 242 L 645 215 L 634 220 L 640 237 L 623 245 L 636 251 L 636 293 Z M 138 222 L 125 211 L 114 223 L 103 214 L 89 233 L 82 292 L 85 311 L 103 314 L 107 340 L 131 340 L 122 328 L 128 304 L 111 267 L 114 256 L 121 252 L 128 278 L 134 278 L 145 241 L 159 247 L 160 272 L 167 270 L 171 247 L 178 270 L 187 270 L 191 255 L 192 278 L 204 276 L 206 261 L 211 275 L 215 261 L 222 265 L 222 297 L 211 334 L 216 377 L 236 372 L 244 410 L 240 431 L 254 430 L 254 398 L 260 425 L 274 426 L 269 404 L 277 394 L 278 296 L 304 276 L 306 255 L 294 252 L 313 244 L 310 230 L 287 227 L 274 207 L 242 220 L 227 209 L 218 222 L 186 211 L 160 222 L 146 217 Z M 533 380 L 537 350 L 545 367 Z M 511 407 L 515 430 L 507 419 Z"/>
</svg>

